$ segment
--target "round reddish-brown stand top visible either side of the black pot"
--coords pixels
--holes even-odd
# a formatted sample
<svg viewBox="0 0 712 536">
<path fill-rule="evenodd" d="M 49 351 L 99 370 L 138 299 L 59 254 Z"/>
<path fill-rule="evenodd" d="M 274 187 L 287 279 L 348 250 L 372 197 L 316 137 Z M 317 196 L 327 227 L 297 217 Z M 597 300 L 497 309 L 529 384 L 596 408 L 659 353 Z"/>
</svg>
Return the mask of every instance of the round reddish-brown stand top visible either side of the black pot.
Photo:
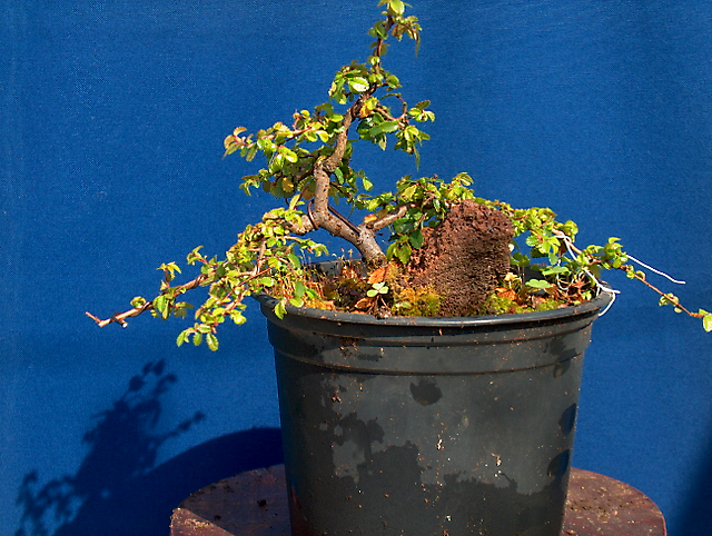
<svg viewBox="0 0 712 536">
<path fill-rule="evenodd" d="M 171 536 L 290 536 L 284 466 L 241 473 L 190 495 Z M 637 489 L 572 469 L 562 536 L 665 536 L 665 520 Z"/>
</svg>

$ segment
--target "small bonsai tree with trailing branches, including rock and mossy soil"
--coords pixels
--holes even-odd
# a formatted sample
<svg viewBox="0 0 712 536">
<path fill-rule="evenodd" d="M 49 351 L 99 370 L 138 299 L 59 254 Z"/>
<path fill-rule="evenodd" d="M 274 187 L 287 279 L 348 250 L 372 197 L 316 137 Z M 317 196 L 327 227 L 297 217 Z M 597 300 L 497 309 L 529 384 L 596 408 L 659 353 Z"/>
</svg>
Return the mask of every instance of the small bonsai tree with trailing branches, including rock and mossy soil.
<svg viewBox="0 0 712 536">
<path fill-rule="evenodd" d="M 417 52 L 418 20 L 406 16 L 402 0 L 378 6 L 384 11 L 368 30 L 369 56 L 338 70 L 326 102 L 294 113 L 290 125 L 276 122 L 254 133 L 239 127 L 225 138 L 226 156 L 264 159 L 264 168 L 240 179 L 244 192 L 263 190 L 277 206 L 245 228 L 224 257 L 194 249 L 187 257 L 188 265 L 200 266 L 194 279 L 175 285 L 181 269 L 167 262 L 159 267 L 164 278 L 152 299 L 136 297 L 130 309 L 107 319 L 87 315 L 99 326 L 125 327 L 127 318 L 146 311 L 184 317 L 192 308 L 184 295 L 208 287 L 194 326 L 177 341 L 206 340 L 215 350 L 218 326 L 226 319 L 243 324 L 244 300 L 255 294 L 277 298 L 280 317 L 289 305 L 379 317 L 511 314 L 566 307 L 600 292 L 614 296 L 601 274 L 619 269 L 657 292 L 661 305 L 702 318 L 712 330 L 712 314 L 694 312 L 650 284 L 645 270 L 664 274 L 627 255 L 617 238 L 578 248 L 573 221 L 557 221 L 547 208 L 476 198 L 466 173 L 449 181 L 407 175 L 393 191 L 373 193 L 365 173 L 352 167 L 356 147 L 393 146 L 417 166 L 418 147 L 429 139 L 421 125 L 435 119 L 429 101 L 406 102 L 398 77 L 384 67 L 394 39 L 413 39 Z M 365 216 L 357 221 L 354 214 Z M 327 249 L 308 238 L 317 229 L 349 242 L 360 262 L 344 262 L 335 278 L 320 276 L 310 262 Z M 390 235 L 384 244 L 385 230 Z"/>
</svg>

